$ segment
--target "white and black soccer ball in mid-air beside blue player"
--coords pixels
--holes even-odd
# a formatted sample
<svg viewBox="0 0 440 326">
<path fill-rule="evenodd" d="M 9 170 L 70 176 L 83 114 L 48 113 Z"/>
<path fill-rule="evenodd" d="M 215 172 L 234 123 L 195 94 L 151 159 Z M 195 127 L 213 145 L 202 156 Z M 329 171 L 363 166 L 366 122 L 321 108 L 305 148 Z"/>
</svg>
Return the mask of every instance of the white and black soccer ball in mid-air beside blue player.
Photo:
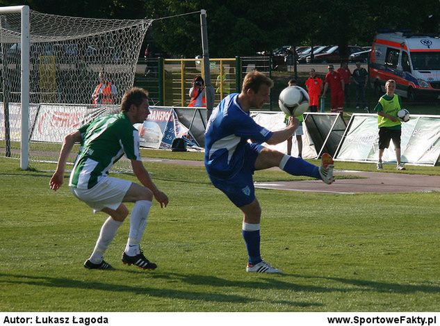
<svg viewBox="0 0 440 326">
<path fill-rule="evenodd" d="M 309 95 L 300 86 L 289 86 L 279 94 L 278 105 L 286 115 L 299 117 L 309 108 Z"/>
</svg>

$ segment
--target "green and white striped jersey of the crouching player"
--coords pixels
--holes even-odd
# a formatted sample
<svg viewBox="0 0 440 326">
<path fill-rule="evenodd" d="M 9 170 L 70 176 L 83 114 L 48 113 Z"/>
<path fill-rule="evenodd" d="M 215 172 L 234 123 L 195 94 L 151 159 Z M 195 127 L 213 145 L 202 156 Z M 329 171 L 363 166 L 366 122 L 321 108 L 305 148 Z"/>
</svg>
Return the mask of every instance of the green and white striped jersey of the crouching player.
<svg viewBox="0 0 440 326">
<path fill-rule="evenodd" d="M 79 131 L 81 148 L 70 174 L 70 187 L 92 188 L 124 154 L 131 160 L 141 159 L 138 130 L 124 113 L 98 117 Z"/>
</svg>

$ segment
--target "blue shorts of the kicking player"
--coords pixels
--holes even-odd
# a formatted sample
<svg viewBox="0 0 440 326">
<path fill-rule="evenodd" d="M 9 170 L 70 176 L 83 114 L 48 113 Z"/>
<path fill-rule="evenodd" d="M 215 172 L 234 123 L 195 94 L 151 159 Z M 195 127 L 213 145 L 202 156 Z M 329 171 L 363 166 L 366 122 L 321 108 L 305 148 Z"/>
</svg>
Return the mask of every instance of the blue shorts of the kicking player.
<svg viewBox="0 0 440 326">
<path fill-rule="evenodd" d="M 256 158 L 263 148 L 264 146 L 259 144 L 247 143 L 245 146 L 243 167 L 231 179 L 218 179 L 208 174 L 215 188 L 222 190 L 237 207 L 245 206 L 255 200 L 255 188 L 252 175 L 255 171 Z"/>
</svg>

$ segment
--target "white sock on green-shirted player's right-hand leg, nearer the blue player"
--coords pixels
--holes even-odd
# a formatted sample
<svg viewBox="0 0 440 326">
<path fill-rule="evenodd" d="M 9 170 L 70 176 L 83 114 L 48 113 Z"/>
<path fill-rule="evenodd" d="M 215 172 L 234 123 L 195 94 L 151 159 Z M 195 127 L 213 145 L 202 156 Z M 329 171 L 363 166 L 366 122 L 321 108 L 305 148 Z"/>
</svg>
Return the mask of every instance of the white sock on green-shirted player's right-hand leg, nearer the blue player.
<svg viewBox="0 0 440 326">
<path fill-rule="evenodd" d="M 129 240 L 125 246 L 125 253 L 129 256 L 136 256 L 140 253 L 139 243 L 144 235 L 145 227 L 147 227 L 147 216 L 152 202 L 149 200 L 138 200 L 134 206 L 130 216 L 130 233 Z"/>
</svg>

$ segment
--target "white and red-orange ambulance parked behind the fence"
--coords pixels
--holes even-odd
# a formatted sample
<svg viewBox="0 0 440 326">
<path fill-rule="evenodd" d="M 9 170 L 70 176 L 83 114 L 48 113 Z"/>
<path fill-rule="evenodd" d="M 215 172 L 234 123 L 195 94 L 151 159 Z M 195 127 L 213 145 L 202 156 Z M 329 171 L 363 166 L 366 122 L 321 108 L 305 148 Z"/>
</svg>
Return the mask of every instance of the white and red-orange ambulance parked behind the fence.
<svg viewBox="0 0 440 326">
<path fill-rule="evenodd" d="M 385 82 L 396 81 L 396 93 L 407 99 L 440 95 L 440 39 L 396 31 L 379 33 L 368 62 L 370 86 L 384 94 Z"/>
</svg>

